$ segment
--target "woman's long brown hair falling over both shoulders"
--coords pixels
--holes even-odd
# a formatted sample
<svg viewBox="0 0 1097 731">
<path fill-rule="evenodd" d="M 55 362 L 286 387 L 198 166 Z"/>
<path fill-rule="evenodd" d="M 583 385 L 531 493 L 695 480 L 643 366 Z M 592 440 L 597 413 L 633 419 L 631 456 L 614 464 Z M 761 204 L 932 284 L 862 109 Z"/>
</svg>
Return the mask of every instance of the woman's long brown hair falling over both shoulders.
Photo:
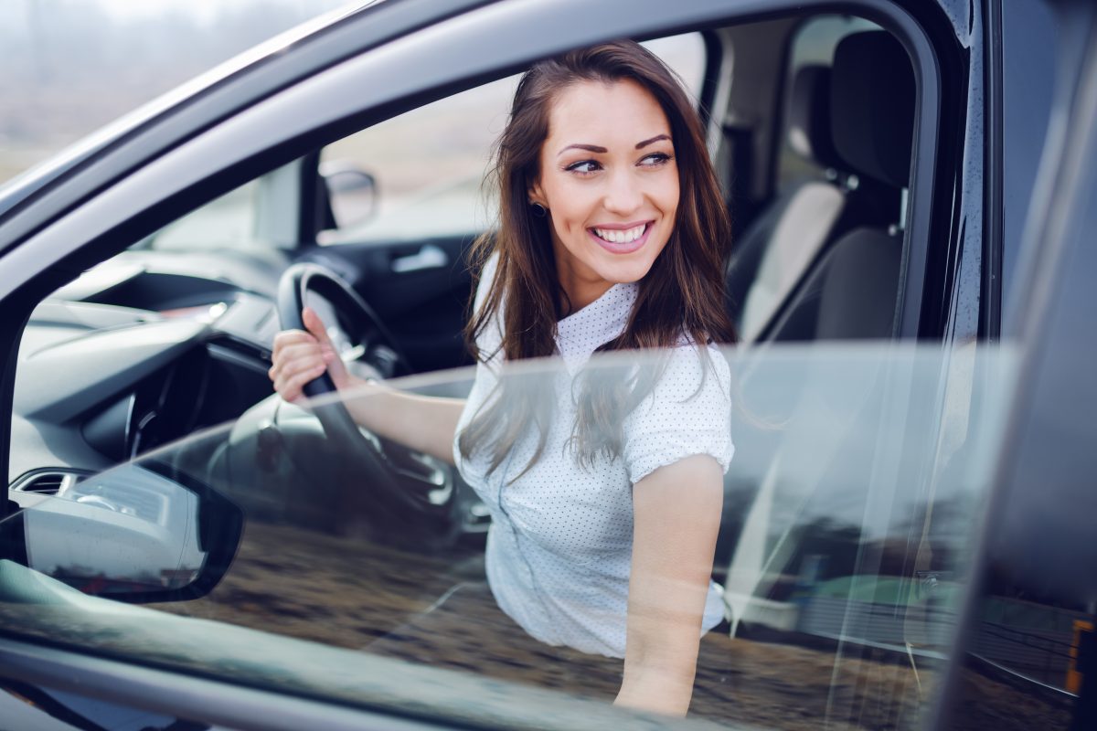
<svg viewBox="0 0 1097 731">
<path fill-rule="evenodd" d="M 568 313 L 553 253 L 551 219 L 533 215 L 528 203 L 531 185 L 540 179 L 541 147 L 548 137 L 548 119 L 556 95 L 572 84 L 631 80 L 659 103 L 670 124 L 680 189 L 677 218 L 667 245 L 640 281 L 624 331 L 598 352 L 670 349 L 683 338 L 703 349 L 709 342 L 734 342 L 724 309 L 724 265 L 731 222 L 704 133 L 689 98 L 674 71 L 633 41 L 617 41 L 573 50 L 539 61 L 522 77 L 510 117 L 500 136 L 489 180 L 498 186 L 497 230 L 480 237 L 473 248 L 473 269 L 479 271 L 496 255 L 495 277 L 478 310 L 473 311 L 465 336 L 474 356 L 486 362 L 496 353 L 479 352 L 476 341 L 502 313 L 506 361 L 556 354 L 556 322 Z M 475 300 L 475 294 L 474 294 Z M 623 418 L 643 399 L 657 374 L 626 374 L 620 368 L 591 369 L 578 381 L 579 404 L 573 443 L 579 459 L 621 454 Z M 544 378 L 508 376 L 499 390 L 473 416 L 459 437 L 462 456 L 488 448 L 495 470 L 528 425 L 540 432 L 540 457 L 547 438 L 552 404 Z M 524 470 L 523 470 L 524 471 Z"/>
</svg>

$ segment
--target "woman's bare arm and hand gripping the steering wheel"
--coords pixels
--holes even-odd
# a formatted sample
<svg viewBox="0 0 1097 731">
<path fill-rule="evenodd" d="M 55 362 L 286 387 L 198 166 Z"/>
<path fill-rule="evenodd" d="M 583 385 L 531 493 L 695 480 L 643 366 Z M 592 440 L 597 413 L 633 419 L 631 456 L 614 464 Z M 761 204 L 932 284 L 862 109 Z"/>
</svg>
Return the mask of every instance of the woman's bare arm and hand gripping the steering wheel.
<svg viewBox="0 0 1097 731">
<path fill-rule="evenodd" d="M 328 339 L 324 323 L 305 308 L 304 330 L 285 330 L 274 338 L 269 372 L 274 390 L 286 401 L 304 398 L 302 389 L 325 370 L 339 389 L 351 418 L 371 432 L 453 464 L 453 437 L 463 399 L 403 393 L 366 382 L 347 372 Z"/>
</svg>

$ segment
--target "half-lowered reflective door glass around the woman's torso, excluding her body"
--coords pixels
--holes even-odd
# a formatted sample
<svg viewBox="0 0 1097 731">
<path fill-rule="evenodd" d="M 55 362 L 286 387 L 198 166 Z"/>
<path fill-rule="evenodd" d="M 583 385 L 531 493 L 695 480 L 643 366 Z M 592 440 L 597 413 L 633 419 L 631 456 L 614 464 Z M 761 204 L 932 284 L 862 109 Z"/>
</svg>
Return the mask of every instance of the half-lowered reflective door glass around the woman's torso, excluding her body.
<svg viewBox="0 0 1097 731">
<path fill-rule="evenodd" d="M 658 357 L 598 357 L 587 373 L 619 378 Z M 702 641 L 691 715 L 778 729 L 916 727 L 950 656 L 1010 352 L 984 353 L 983 408 L 943 454 L 936 347 L 714 357 L 738 381 L 735 454 L 713 566 L 721 623 Z M 462 397 L 473 375 L 392 385 Z M 507 378 L 570 375 L 546 363 Z M 25 552 L 0 563 L 5 626 L 419 717 L 609 722 L 620 661 L 533 640 L 500 612 L 484 555 L 498 507 L 437 458 L 369 435 L 353 448 L 326 439 L 313 415 L 321 406 L 275 396 L 134 462 L 16 486 L 26 510 L 0 527 Z M 394 502 L 393 480 L 408 502 Z M 573 580 L 602 570 L 596 561 Z M 152 604 L 117 603 L 125 597 Z"/>
</svg>

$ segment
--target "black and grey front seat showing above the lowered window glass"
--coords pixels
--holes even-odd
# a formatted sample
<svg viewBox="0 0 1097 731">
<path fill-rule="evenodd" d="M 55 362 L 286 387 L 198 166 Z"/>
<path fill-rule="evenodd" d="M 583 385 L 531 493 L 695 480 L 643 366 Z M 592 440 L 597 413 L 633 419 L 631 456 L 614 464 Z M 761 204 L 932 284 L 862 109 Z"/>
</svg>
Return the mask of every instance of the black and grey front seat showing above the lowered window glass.
<svg viewBox="0 0 1097 731">
<path fill-rule="evenodd" d="M 815 80 L 805 84 L 824 83 L 818 71 L 810 75 Z M 816 99 L 818 93 L 816 89 Z M 794 108 L 805 108 L 803 100 Z M 816 101 L 813 113 L 818 108 Z M 869 31 L 838 43 L 829 78 L 829 135 L 838 164 L 848 175 L 840 185 L 832 184 L 834 193 L 822 191 L 827 183 L 815 183 L 794 191 L 792 207 L 781 201 L 776 204 L 781 208 L 772 214 L 774 236 L 766 237 L 757 276 L 746 295 L 744 340 L 893 334 L 914 110 L 914 72 L 898 41 L 884 31 Z M 818 155 L 832 149 L 821 140 L 824 128 L 817 119 L 806 127 L 801 122 L 790 135 L 811 139 Z M 822 213 L 805 219 L 804 210 L 811 206 L 798 201 L 803 195 L 840 198 L 840 215 L 834 209 L 839 204 L 834 204 L 825 212 L 816 206 Z M 765 227 L 764 221 L 760 225 Z M 777 236 L 782 228 L 788 230 Z M 764 231 L 744 237 L 744 253 L 728 270 L 732 293 L 743 292 L 744 271 L 749 270 L 746 260 L 759 247 L 753 237 L 765 237 Z M 751 310 L 755 301 L 762 309 Z"/>
</svg>

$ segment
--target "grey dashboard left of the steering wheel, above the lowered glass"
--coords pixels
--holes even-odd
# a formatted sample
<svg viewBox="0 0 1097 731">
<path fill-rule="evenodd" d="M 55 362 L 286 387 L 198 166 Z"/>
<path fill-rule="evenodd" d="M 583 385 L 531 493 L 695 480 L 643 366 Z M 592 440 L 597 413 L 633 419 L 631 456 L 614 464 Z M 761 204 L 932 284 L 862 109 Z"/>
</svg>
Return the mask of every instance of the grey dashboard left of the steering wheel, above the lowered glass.
<svg viewBox="0 0 1097 731">
<path fill-rule="evenodd" d="M 13 492 L 44 472 L 105 469 L 271 395 L 281 266 L 188 261 L 193 271 L 127 252 L 35 309 L 15 377 Z"/>
</svg>

